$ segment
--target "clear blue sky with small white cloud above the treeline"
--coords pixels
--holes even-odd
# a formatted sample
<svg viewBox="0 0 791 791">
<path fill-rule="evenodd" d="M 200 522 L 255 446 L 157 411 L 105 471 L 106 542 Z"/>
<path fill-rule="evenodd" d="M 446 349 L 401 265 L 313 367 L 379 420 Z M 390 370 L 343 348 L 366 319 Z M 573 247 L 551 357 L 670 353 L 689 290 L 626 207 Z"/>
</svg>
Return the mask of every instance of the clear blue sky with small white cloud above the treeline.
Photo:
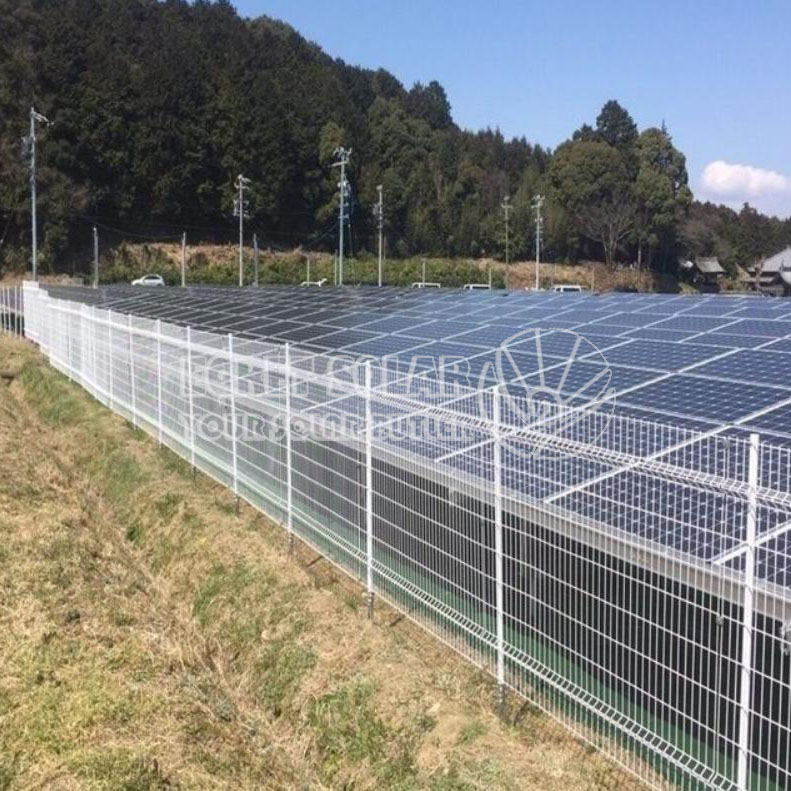
<svg viewBox="0 0 791 791">
<path fill-rule="evenodd" d="M 236 0 L 409 87 L 463 127 L 554 147 L 617 99 L 667 123 L 698 198 L 791 215 L 791 0 Z"/>
</svg>

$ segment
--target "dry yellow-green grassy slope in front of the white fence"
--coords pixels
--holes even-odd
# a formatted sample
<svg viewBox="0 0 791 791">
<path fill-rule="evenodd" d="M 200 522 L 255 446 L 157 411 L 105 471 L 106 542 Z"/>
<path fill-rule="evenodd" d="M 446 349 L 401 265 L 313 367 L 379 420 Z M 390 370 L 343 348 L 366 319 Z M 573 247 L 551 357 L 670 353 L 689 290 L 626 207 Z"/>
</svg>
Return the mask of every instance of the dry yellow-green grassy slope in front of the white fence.
<svg viewBox="0 0 791 791">
<path fill-rule="evenodd" d="M 624 789 L 0 338 L 0 789 Z"/>
</svg>

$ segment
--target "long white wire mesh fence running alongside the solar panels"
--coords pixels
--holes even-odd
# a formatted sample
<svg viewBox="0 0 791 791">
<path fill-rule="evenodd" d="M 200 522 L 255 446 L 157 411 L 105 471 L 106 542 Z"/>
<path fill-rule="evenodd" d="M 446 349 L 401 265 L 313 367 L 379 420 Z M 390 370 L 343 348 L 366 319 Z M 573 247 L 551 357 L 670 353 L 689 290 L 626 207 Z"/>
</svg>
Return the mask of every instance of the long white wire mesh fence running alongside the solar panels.
<svg viewBox="0 0 791 791">
<path fill-rule="evenodd" d="M 51 364 L 656 788 L 791 784 L 791 450 L 24 291 Z M 452 386 L 449 386 L 452 385 Z"/>
</svg>

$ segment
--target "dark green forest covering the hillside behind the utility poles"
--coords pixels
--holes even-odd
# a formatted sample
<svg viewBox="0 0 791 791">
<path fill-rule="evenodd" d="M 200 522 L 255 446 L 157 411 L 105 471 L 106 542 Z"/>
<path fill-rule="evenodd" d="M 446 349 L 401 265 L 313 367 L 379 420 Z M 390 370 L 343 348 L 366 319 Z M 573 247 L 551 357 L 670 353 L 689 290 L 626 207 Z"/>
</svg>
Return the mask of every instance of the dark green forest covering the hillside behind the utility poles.
<svg viewBox="0 0 791 791">
<path fill-rule="evenodd" d="M 375 246 L 379 184 L 391 257 L 502 258 L 505 196 L 511 258 L 531 257 L 537 193 L 545 260 L 674 272 L 680 256 L 733 267 L 791 243 L 791 219 L 694 201 L 671 131 L 639 130 L 616 101 L 550 151 L 460 129 L 437 82 L 349 66 L 225 0 L 0 0 L 0 19 L 0 272 L 29 258 L 31 105 L 53 121 L 37 143 L 44 271 L 84 256 L 94 224 L 233 239 L 238 173 L 263 245 L 330 250 L 339 145 L 352 253 Z"/>
</svg>

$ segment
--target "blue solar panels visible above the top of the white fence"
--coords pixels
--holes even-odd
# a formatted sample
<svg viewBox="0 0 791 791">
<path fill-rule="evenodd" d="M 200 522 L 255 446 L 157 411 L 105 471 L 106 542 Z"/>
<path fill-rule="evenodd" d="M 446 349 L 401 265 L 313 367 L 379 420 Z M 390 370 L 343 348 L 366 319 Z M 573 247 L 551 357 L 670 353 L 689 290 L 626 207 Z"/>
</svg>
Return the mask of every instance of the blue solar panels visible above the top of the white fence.
<svg viewBox="0 0 791 791">
<path fill-rule="evenodd" d="M 606 359 L 616 409 L 668 422 L 693 420 L 701 427 L 733 424 L 774 441 L 791 439 L 785 420 L 791 410 L 791 302 L 780 299 L 394 288 L 50 287 L 49 292 L 239 338 L 290 342 L 324 353 L 414 355 L 425 365 L 432 357 L 482 362 L 508 338 L 535 328 L 543 342 L 533 373 L 554 371 L 556 379 L 569 348 L 552 330 L 572 330 Z M 552 348 L 553 340 L 561 346 Z M 578 383 L 579 377 L 566 377 L 553 386 L 570 397 Z"/>
</svg>

